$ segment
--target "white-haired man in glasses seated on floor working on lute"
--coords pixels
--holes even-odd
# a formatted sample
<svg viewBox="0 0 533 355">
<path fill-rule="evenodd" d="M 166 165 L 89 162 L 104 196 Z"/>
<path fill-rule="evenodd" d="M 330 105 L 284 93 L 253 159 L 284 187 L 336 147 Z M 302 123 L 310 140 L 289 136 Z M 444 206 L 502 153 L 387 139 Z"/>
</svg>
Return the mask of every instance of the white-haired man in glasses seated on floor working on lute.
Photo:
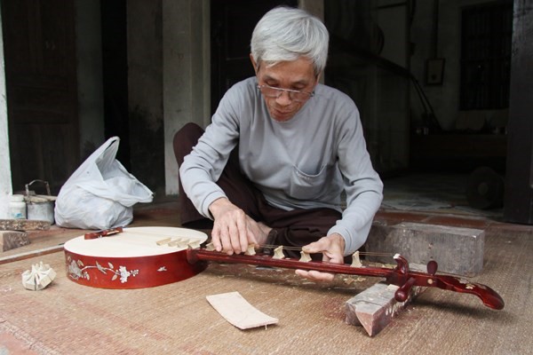
<svg viewBox="0 0 533 355">
<path fill-rule="evenodd" d="M 176 134 L 182 225 L 212 220 L 217 250 L 284 245 L 342 263 L 366 241 L 383 184 L 353 100 L 319 83 L 328 42 L 307 12 L 267 12 L 251 37 L 256 76 L 227 91 L 205 132 Z"/>
</svg>

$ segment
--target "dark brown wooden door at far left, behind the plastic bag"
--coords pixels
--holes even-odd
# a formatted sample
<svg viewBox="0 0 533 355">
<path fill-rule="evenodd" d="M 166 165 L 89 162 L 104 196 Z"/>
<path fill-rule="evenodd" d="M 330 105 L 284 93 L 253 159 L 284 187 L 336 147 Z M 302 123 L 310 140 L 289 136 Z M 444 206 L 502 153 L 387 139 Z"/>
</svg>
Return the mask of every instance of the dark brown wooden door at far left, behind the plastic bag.
<svg viewBox="0 0 533 355">
<path fill-rule="evenodd" d="M 2 1 L 13 191 L 79 164 L 73 0 Z"/>
</svg>

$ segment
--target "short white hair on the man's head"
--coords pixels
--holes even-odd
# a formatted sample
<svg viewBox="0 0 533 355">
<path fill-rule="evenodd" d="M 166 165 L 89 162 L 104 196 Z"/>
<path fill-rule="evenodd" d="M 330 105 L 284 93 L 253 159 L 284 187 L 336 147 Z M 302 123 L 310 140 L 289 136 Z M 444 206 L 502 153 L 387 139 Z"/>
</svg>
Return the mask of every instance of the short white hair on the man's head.
<svg viewBox="0 0 533 355">
<path fill-rule="evenodd" d="M 251 35 L 251 55 L 267 67 L 300 57 L 311 59 L 315 74 L 328 59 L 330 35 L 321 20 L 304 10 L 276 7 L 267 12 Z"/>
</svg>

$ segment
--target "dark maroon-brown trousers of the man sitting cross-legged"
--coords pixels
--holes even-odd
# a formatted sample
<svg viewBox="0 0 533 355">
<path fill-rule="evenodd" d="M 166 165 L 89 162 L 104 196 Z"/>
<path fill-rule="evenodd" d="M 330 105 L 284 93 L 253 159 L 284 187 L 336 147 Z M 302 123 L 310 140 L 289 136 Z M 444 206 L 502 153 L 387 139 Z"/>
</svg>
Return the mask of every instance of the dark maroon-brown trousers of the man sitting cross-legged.
<svg viewBox="0 0 533 355">
<path fill-rule="evenodd" d="M 173 145 L 179 166 L 202 135 L 203 129 L 195 123 L 187 123 L 176 133 Z M 255 221 L 263 222 L 274 229 L 274 233 L 271 233 L 274 238 L 269 241 L 271 244 L 300 248 L 325 236 L 336 221 L 341 218 L 341 213 L 335 209 L 293 209 L 287 211 L 269 205 L 263 193 L 241 173 L 237 152 L 238 147 L 230 155 L 217 185 L 226 193 L 229 201 L 243 209 L 244 213 Z M 179 180 L 179 207 L 181 225 L 184 227 L 212 228 L 212 221 L 200 215 L 193 203 L 187 198 L 181 180 Z M 295 253 L 290 253 L 289 250 L 287 252 L 290 257 L 297 256 Z"/>
</svg>

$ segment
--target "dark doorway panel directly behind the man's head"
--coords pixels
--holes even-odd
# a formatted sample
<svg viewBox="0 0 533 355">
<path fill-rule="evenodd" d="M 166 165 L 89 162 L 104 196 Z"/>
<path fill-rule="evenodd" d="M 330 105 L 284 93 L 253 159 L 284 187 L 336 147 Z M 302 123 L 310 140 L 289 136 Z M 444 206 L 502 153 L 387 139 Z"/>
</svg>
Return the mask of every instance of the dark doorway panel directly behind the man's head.
<svg viewBox="0 0 533 355">
<path fill-rule="evenodd" d="M 211 111 L 234 83 L 254 75 L 250 61 L 253 28 L 275 6 L 298 6 L 298 0 L 211 1 Z"/>
</svg>

